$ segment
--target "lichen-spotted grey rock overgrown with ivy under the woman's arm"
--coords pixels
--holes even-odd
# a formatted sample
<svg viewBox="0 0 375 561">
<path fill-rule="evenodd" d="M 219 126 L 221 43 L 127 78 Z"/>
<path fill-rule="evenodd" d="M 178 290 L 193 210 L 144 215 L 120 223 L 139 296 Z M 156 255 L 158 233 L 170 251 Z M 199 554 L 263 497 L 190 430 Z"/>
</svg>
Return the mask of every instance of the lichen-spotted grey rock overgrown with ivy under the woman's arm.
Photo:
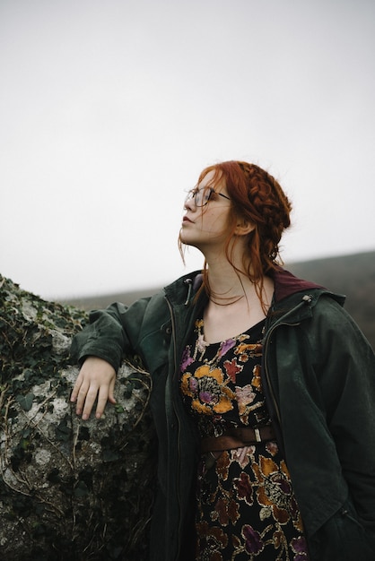
<svg viewBox="0 0 375 561">
<path fill-rule="evenodd" d="M 117 405 L 83 421 L 69 402 L 69 348 L 86 313 L 1 276 L 0 306 L 0 559 L 146 559 L 150 376 L 124 363 Z"/>
</svg>

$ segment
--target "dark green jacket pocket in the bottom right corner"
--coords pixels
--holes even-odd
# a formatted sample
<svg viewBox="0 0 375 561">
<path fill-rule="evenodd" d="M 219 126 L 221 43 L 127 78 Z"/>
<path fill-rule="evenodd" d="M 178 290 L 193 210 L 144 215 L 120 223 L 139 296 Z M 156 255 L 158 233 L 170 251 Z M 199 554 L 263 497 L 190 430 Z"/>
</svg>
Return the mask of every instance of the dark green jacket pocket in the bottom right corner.
<svg viewBox="0 0 375 561">
<path fill-rule="evenodd" d="M 310 561 L 374 561 L 375 544 L 350 500 L 310 539 Z"/>
</svg>

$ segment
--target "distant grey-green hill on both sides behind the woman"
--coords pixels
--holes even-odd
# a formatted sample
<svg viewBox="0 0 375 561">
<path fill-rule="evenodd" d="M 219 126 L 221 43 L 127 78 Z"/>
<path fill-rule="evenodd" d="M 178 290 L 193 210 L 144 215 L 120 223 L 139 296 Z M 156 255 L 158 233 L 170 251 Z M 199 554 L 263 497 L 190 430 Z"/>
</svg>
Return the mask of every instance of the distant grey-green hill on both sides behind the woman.
<svg viewBox="0 0 375 561">
<path fill-rule="evenodd" d="M 375 251 L 286 263 L 285 268 L 302 279 L 312 280 L 346 296 L 345 308 L 362 329 L 375 349 Z M 90 310 L 112 302 L 132 304 L 138 298 L 151 296 L 160 287 L 133 290 L 95 298 L 66 300 L 65 303 Z"/>
</svg>

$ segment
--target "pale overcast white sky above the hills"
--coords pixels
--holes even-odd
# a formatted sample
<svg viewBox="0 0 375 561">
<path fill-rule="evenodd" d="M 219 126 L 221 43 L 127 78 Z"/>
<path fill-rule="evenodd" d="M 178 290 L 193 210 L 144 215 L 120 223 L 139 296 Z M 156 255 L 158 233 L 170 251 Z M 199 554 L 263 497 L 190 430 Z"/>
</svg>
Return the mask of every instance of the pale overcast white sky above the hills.
<svg viewBox="0 0 375 561">
<path fill-rule="evenodd" d="M 375 249 L 373 0 L 0 0 L 0 272 L 44 298 L 184 268 L 184 191 L 249 160 L 283 259 Z"/>
</svg>

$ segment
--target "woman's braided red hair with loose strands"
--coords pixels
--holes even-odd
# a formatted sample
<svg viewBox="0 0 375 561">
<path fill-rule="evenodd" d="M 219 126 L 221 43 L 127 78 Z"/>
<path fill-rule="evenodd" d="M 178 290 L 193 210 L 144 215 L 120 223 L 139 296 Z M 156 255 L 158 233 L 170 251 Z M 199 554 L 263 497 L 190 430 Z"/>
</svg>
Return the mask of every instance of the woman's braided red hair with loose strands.
<svg viewBox="0 0 375 561">
<path fill-rule="evenodd" d="M 238 220 L 251 223 L 254 229 L 247 235 L 246 253 L 243 255 L 242 271 L 257 286 L 261 298 L 263 278 L 283 264 L 279 255 L 279 242 L 283 230 L 290 224 L 292 204 L 284 194 L 282 187 L 264 169 L 244 161 L 224 161 L 205 168 L 199 176 L 198 184 L 213 172 L 210 186 L 215 188 L 222 180 L 231 199 L 229 232 L 225 253 L 231 258 L 235 229 Z M 204 267 L 204 285 L 210 295 L 206 263 Z M 261 298 L 263 303 L 263 298 Z"/>
</svg>

